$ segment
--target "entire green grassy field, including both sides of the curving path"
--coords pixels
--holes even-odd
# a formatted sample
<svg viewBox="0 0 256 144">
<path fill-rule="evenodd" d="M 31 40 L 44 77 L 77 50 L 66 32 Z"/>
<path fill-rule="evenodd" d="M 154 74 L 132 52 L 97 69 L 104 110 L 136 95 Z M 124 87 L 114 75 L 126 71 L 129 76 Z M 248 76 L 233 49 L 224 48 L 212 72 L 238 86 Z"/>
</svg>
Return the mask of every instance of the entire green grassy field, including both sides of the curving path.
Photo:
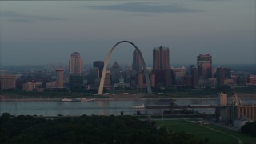
<svg viewBox="0 0 256 144">
<path fill-rule="evenodd" d="M 211 124 L 200 125 L 182 119 L 158 121 L 157 123 L 169 131 L 194 134 L 202 139 L 208 138 L 209 143 L 238 143 L 238 140 L 241 140 L 243 144 L 256 142 L 256 138 Z"/>
</svg>

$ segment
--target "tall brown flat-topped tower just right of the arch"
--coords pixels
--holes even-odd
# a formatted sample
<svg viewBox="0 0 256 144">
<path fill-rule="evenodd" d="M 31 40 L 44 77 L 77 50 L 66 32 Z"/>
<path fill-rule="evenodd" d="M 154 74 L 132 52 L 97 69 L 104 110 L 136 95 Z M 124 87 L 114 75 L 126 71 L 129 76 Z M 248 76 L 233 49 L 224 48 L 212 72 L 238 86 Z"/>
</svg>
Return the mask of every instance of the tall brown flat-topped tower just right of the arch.
<svg viewBox="0 0 256 144">
<path fill-rule="evenodd" d="M 153 50 L 153 70 L 166 70 L 170 68 L 169 48 L 155 47 Z"/>
</svg>

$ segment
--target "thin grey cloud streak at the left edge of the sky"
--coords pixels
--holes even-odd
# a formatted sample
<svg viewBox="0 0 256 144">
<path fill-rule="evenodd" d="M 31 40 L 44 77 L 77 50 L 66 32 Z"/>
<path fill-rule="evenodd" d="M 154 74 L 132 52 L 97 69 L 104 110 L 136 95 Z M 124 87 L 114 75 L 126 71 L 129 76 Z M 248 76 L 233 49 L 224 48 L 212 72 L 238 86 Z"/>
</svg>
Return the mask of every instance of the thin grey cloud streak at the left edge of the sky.
<svg viewBox="0 0 256 144">
<path fill-rule="evenodd" d="M 10 22 L 62 21 L 65 18 L 54 18 L 39 15 L 21 14 L 12 11 L 2 11 L 0 18 L 10 18 Z"/>
</svg>

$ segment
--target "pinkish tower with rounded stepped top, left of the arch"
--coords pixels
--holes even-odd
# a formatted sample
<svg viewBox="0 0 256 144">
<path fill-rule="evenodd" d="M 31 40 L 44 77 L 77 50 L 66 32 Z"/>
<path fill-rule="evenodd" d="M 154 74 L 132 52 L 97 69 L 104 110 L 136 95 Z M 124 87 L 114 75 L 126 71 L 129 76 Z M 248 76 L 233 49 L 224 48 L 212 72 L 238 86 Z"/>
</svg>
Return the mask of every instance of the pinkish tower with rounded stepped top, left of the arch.
<svg viewBox="0 0 256 144">
<path fill-rule="evenodd" d="M 70 57 L 70 75 L 82 75 L 83 65 L 80 53 L 74 52 Z"/>
</svg>

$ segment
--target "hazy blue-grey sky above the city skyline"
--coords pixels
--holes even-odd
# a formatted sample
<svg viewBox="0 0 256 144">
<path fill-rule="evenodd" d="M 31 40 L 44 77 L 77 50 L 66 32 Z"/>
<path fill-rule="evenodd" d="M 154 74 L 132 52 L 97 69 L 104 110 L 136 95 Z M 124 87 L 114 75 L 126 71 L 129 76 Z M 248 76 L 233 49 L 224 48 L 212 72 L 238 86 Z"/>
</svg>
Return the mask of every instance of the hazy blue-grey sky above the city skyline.
<svg viewBox="0 0 256 144">
<path fill-rule="evenodd" d="M 134 42 L 147 65 L 153 48 L 170 48 L 170 65 L 256 64 L 255 0 L 0 2 L 2 65 L 105 60 L 121 40 Z M 110 63 L 132 63 L 134 48 L 119 45 Z"/>
</svg>

